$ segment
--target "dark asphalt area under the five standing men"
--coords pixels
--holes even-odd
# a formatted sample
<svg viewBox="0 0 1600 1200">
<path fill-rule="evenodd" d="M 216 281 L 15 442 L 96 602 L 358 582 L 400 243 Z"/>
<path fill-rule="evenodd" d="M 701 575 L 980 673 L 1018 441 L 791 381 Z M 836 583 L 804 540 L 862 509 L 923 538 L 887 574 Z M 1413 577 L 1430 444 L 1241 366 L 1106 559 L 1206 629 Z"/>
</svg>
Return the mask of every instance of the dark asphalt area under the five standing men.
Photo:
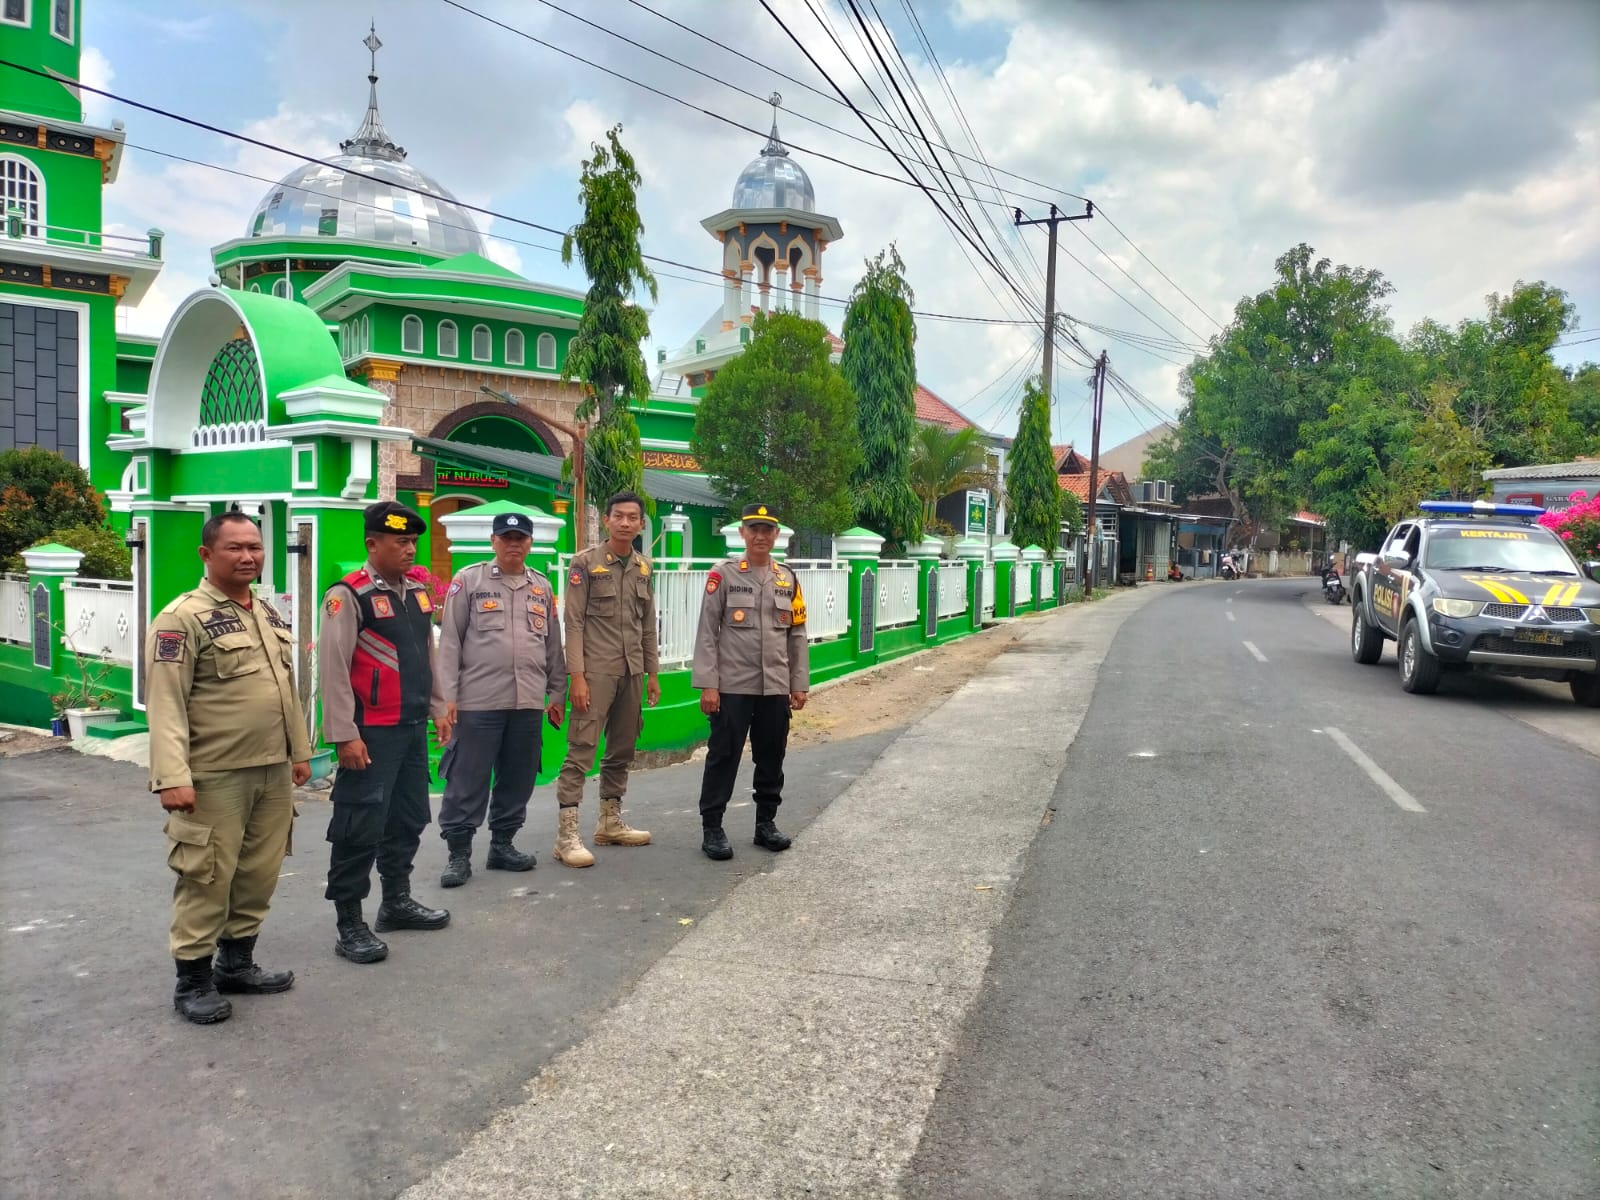
<svg viewBox="0 0 1600 1200">
<path fill-rule="evenodd" d="M 790 754 L 786 832 L 803 840 L 890 741 Z M 0 760 L 0 1197 L 397 1195 L 778 861 L 749 845 L 747 798 L 728 814 L 736 858 L 707 861 L 698 792 L 698 763 L 640 773 L 627 816 L 656 843 L 573 870 L 549 856 L 555 795 L 539 787 L 518 838 L 538 869 L 483 872 L 485 835 L 453 891 L 430 826 L 414 891 L 451 925 L 384 934 L 389 960 L 370 966 L 333 954 L 328 805 L 307 803 L 258 947 L 294 989 L 234 997 L 230 1021 L 197 1027 L 171 1010 L 171 874 L 144 771 L 66 750 Z M 590 784 L 586 837 L 594 818 Z"/>
</svg>

